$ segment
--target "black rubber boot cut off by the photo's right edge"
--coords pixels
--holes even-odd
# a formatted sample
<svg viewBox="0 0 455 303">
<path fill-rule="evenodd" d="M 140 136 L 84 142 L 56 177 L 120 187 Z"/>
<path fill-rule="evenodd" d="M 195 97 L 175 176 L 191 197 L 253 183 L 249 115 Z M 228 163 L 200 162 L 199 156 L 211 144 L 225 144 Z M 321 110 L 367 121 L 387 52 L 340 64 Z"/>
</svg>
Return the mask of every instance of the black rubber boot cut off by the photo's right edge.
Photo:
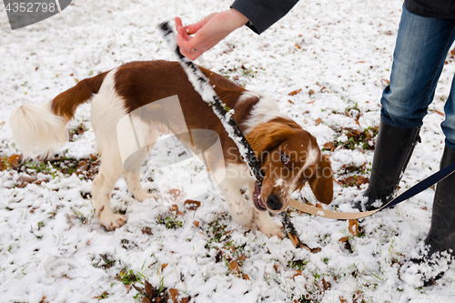
<svg viewBox="0 0 455 303">
<path fill-rule="evenodd" d="M 455 150 L 445 146 L 440 168 L 448 167 L 453 162 Z M 436 186 L 430 231 L 425 244 L 430 246 L 429 256 L 435 252 L 448 251 L 455 257 L 455 173 Z"/>
</svg>

